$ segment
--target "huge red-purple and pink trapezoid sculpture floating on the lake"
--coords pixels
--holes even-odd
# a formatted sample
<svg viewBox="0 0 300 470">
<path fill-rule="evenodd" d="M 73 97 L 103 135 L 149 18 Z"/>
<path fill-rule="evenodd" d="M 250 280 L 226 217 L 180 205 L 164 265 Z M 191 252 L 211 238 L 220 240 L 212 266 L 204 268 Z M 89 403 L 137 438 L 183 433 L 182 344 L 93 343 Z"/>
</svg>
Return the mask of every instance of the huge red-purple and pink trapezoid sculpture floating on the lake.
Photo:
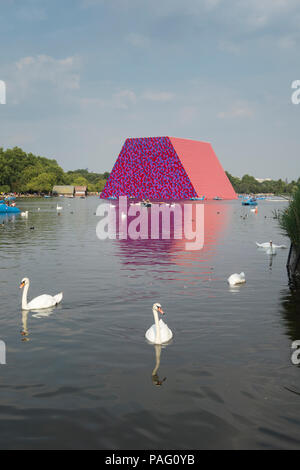
<svg viewBox="0 0 300 470">
<path fill-rule="evenodd" d="M 236 199 L 211 144 L 175 137 L 127 139 L 101 198 Z"/>
</svg>

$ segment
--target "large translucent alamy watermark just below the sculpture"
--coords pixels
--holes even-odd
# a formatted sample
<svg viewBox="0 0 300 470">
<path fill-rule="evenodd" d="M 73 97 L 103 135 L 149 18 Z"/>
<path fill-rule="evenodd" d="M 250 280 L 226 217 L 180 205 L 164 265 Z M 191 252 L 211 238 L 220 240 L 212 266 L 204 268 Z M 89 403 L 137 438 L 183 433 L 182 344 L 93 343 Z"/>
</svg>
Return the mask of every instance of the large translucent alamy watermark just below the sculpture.
<svg viewBox="0 0 300 470">
<path fill-rule="evenodd" d="M 204 204 L 129 202 L 100 204 L 96 215 L 99 240 L 185 240 L 186 250 L 204 246 Z"/>
</svg>

